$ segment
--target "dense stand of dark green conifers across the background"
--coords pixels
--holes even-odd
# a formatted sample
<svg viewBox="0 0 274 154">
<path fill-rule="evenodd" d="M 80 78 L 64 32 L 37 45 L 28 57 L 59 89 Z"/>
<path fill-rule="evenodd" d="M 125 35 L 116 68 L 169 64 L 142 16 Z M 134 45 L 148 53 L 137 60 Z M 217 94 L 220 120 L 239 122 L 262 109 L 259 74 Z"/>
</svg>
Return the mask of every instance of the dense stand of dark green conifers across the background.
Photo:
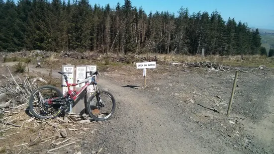
<svg viewBox="0 0 274 154">
<path fill-rule="evenodd" d="M 259 30 L 212 13 L 145 13 L 130 0 L 100 6 L 88 0 L 0 0 L 0 51 L 94 51 L 196 55 L 260 54 Z"/>
</svg>

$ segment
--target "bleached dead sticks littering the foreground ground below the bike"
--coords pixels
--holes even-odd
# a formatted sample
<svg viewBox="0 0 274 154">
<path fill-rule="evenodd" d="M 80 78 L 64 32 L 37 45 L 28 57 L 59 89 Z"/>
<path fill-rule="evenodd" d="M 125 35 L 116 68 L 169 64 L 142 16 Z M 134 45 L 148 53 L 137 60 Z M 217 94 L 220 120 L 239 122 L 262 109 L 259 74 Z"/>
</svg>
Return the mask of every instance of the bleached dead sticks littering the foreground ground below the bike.
<svg viewBox="0 0 274 154">
<path fill-rule="evenodd" d="M 33 149 L 40 154 L 50 152 L 63 154 L 70 149 L 75 151 L 74 154 L 81 154 L 79 152 L 81 139 L 97 133 L 97 129 L 92 126 L 96 121 L 91 121 L 86 114 L 69 114 L 67 121 L 59 117 L 47 120 L 26 118 L 23 112 L 17 111 L 7 112 L 4 116 L 5 118 L 0 119 L 0 133 L 2 133 L 0 141 L 12 141 L 12 143 L 1 143 L 2 147 L 11 152 L 33 154 Z M 98 123 L 103 124 L 101 121 Z M 21 135 L 22 141 L 16 140 L 16 136 Z M 37 151 L 38 149 L 40 150 Z M 65 152 L 61 152 L 64 150 Z"/>
</svg>

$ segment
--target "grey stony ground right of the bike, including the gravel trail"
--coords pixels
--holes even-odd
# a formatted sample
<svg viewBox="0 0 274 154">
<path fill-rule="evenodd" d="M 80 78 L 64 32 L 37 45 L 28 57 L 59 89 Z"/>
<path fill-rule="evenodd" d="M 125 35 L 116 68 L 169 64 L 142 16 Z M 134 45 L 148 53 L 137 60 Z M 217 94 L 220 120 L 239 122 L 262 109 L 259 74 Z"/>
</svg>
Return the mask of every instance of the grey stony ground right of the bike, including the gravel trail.
<svg viewBox="0 0 274 154">
<path fill-rule="evenodd" d="M 142 70 L 132 65 L 98 69 L 98 86 L 114 95 L 116 110 L 111 119 L 85 131 L 78 147 L 82 154 L 274 153 L 273 69 L 158 64 L 147 70 L 146 88 Z M 237 69 L 241 72 L 226 116 Z"/>
</svg>

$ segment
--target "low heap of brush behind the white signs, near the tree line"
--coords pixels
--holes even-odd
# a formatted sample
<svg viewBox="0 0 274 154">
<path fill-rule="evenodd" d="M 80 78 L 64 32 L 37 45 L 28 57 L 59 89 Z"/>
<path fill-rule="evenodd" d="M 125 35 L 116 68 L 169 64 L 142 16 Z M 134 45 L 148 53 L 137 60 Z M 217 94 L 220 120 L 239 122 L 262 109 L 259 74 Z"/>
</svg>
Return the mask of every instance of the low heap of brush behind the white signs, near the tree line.
<svg viewBox="0 0 274 154">
<path fill-rule="evenodd" d="M 99 54 L 85 54 L 80 52 L 65 52 L 60 55 L 61 57 L 68 57 L 72 59 L 91 59 L 91 60 L 97 60 L 100 55 Z"/>
</svg>

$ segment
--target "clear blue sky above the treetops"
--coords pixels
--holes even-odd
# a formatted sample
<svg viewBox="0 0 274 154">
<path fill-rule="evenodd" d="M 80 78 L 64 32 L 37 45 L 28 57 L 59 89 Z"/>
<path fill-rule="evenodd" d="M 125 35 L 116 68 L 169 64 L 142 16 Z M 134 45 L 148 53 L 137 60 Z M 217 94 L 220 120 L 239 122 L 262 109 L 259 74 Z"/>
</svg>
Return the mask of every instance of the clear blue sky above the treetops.
<svg viewBox="0 0 274 154">
<path fill-rule="evenodd" d="M 105 5 L 107 3 L 113 8 L 124 0 L 90 0 L 90 4 L 95 3 Z M 274 30 L 274 0 L 131 0 L 132 5 L 139 8 L 142 6 L 148 13 L 165 11 L 174 12 L 181 6 L 188 7 L 192 12 L 207 11 L 209 14 L 217 9 L 224 20 L 234 17 L 238 22 L 247 22 L 249 27 L 273 29 Z"/>
</svg>

